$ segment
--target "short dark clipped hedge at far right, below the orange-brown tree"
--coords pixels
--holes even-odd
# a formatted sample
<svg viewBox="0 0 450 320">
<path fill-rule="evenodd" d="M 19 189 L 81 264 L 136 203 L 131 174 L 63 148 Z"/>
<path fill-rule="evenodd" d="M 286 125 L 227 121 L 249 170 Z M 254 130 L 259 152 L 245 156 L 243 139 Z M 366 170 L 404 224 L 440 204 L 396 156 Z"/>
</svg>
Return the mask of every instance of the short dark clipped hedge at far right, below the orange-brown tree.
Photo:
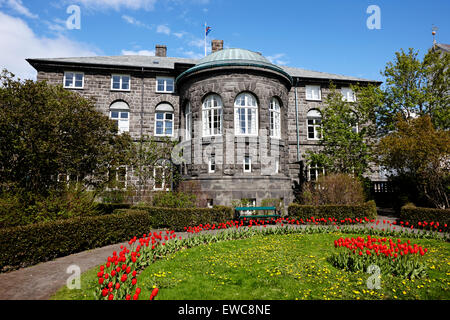
<svg viewBox="0 0 450 320">
<path fill-rule="evenodd" d="M 450 209 L 420 208 L 405 205 L 400 210 L 400 220 L 408 221 L 417 225 L 419 222 L 439 222 L 439 224 L 450 224 Z"/>
</svg>

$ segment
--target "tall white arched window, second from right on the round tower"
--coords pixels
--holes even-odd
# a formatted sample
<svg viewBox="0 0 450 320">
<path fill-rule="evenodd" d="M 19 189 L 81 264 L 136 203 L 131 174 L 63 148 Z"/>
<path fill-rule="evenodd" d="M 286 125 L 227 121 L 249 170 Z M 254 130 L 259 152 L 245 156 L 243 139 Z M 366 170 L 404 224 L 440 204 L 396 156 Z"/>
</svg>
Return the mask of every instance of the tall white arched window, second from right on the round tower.
<svg viewBox="0 0 450 320">
<path fill-rule="evenodd" d="M 249 93 L 241 93 L 234 102 L 236 135 L 258 135 L 258 102 Z"/>
</svg>

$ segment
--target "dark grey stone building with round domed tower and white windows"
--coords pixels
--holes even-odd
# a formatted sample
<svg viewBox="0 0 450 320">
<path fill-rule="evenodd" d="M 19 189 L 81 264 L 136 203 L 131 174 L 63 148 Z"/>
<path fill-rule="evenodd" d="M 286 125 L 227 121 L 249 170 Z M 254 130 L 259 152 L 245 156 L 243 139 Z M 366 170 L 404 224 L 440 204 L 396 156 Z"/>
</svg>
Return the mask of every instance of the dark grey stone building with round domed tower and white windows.
<svg viewBox="0 0 450 320">
<path fill-rule="evenodd" d="M 317 148 L 330 81 L 347 101 L 356 99 L 352 84 L 379 83 L 278 66 L 257 52 L 223 49 L 223 41 L 212 47 L 200 60 L 167 57 L 158 45 L 156 56 L 27 61 L 38 81 L 94 98 L 133 139 L 179 139 L 184 182 L 196 186 L 204 205 L 240 199 L 287 205 L 306 151 Z M 311 180 L 322 171 L 306 168 Z M 164 181 L 153 187 L 168 188 Z"/>
</svg>

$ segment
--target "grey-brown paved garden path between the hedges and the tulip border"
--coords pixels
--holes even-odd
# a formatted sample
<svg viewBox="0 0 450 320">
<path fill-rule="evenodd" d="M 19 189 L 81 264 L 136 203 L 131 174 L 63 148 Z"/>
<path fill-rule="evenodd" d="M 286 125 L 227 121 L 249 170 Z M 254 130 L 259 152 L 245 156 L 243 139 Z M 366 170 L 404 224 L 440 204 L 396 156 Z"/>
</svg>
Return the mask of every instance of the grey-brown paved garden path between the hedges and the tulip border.
<svg viewBox="0 0 450 320">
<path fill-rule="evenodd" d="M 395 218 L 378 216 L 378 220 L 394 221 Z M 378 226 L 373 225 L 377 228 L 383 227 L 381 223 Z M 185 238 L 192 236 L 192 234 L 177 233 L 177 236 Z M 66 284 L 71 275 L 66 272 L 69 266 L 77 265 L 83 273 L 105 263 L 113 251 L 120 251 L 121 245 L 128 245 L 128 243 L 88 250 L 32 267 L 0 274 L 2 286 L 0 300 L 47 300 Z"/>
</svg>

